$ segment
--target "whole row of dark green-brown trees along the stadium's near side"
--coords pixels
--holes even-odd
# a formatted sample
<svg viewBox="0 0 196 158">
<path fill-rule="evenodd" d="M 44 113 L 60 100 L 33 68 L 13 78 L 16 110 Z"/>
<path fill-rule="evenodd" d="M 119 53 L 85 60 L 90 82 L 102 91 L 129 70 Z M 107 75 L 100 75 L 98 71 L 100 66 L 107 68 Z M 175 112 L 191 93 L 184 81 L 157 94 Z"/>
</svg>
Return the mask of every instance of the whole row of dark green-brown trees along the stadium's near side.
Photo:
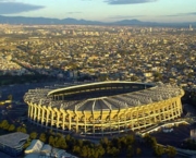
<svg viewBox="0 0 196 158">
<path fill-rule="evenodd" d="M 25 124 L 22 126 L 15 126 L 10 124 L 8 120 L 0 122 L 0 130 L 8 132 L 23 132 L 28 133 L 28 127 Z M 33 130 L 33 129 L 32 129 Z M 113 137 L 109 139 L 103 137 L 98 144 L 94 144 L 89 141 L 82 141 L 72 137 L 71 135 L 62 135 L 60 133 L 54 133 L 52 130 L 49 132 L 29 132 L 29 139 L 25 143 L 24 148 L 28 147 L 32 139 L 39 138 L 46 144 L 50 144 L 53 147 L 65 149 L 68 153 L 76 155 L 82 158 L 101 158 L 101 157 L 144 157 L 145 151 L 143 147 L 146 146 L 151 150 L 151 156 L 161 157 L 167 155 L 169 157 L 174 157 L 176 150 L 174 147 L 168 146 L 163 147 L 157 144 L 155 137 L 149 134 L 145 135 L 143 143 L 136 139 L 134 135 L 128 134 L 122 137 Z"/>
</svg>

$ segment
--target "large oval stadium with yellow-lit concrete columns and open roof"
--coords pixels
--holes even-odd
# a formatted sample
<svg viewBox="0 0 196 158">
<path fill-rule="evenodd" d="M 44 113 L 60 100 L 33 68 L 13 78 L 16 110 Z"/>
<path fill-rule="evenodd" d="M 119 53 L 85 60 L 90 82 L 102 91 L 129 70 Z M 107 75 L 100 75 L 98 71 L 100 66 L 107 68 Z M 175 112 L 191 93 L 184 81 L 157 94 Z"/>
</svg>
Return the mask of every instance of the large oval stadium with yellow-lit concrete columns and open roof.
<svg viewBox="0 0 196 158">
<path fill-rule="evenodd" d="M 170 84 L 98 82 L 29 89 L 24 100 L 32 122 L 78 134 L 143 130 L 182 114 L 184 92 Z"/>
</svg>

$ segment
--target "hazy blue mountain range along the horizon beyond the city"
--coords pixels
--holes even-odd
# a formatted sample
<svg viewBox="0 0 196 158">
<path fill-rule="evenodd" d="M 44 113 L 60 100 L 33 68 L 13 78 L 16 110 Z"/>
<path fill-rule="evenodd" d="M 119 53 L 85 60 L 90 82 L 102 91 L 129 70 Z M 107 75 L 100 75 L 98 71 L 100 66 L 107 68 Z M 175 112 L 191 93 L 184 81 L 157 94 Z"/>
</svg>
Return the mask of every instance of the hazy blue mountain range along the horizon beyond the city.
<svg viewBox="0 0 196 158">
<path fill-rule="evenodd" d="M 117 22 L 103 23 L 98 21 L 86 21 L 86 20 L 75 20 L 75 19 L 49 19 L 49 17 L 24 17 L 24 16 L 2 16 L 0 15 L 0 24 L 24 24 L 24 25 L 137 25 L 137 26 L 184 26 L 188 27 L 192 24 L 196 27 L 196 22 L 194 23 L 156 23 L 156 22 L 142 22 L 138 20 L 122 20 Z"/>
</svg>

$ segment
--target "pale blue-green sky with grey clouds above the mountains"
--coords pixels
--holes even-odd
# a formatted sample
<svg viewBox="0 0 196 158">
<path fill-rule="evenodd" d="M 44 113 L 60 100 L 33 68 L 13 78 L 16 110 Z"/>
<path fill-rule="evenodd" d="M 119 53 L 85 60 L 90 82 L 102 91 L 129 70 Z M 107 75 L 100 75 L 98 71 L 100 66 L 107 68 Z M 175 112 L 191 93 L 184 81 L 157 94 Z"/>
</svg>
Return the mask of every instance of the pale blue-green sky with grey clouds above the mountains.
<svg viewBox="0 0 196 158">
<path fill-rule="evenodd" d="M 196 22 L 196 0 L 0 0 L 0 15 Z"/>
</svg>

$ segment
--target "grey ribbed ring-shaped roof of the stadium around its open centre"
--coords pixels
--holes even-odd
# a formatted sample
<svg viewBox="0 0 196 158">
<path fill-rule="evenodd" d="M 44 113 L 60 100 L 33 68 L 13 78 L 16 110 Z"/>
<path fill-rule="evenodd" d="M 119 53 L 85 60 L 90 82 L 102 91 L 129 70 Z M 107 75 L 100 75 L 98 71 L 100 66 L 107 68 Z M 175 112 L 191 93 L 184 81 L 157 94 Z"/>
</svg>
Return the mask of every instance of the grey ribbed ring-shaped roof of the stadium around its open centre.
<svg viewBox="0 0 196 158">
<path fill-rule="evenodd" d="M 110 84 L 111 82 L 101 82 L 101 83 L 94 83 L 94 84 L 85 84 L 78 86 L 71 86 L 65 88 L 60 88 L 52 90 L 50 88 L 46 89 L 35 89 L 29 90 L 25 94 L 25 101 L 34 102 L 39 106 L 46 106 L 57 109 L 64 109 L 64 110 L 72 110 L 72 111 L 110 111 L 110 110 L 121 110 L 126 109 L 130 107 L 143 106 L 148 105 L 151 102 L 161 101 L 164 99 L 170 99 L 172 97 L 176 97 L 182 95 L 183 92 L 177 86 L 171 86 L 170 84 L 159 84 L 157 86 L 152 86 L 152 84 L 144 84 L 144 83 L 131 83 L 131 82 L 112 82 L 114 84 L 122 85 L 125 84 L 133 84 L 133 85 L 148 85 L 148 88 L 139 89 L 138 92 L 125 92 L 122 94 L 113 95 L 113 96 L 101 96 L 101 97 L 93 97 L 91 98 L 82 99 L 82 100 L 56 100 L 48 96 L 49 92 L 63 92 L 65 89 L 74 89 L 75 87 L 86 87 L 86 86 L 95 86 L 95 85 L 106 85 Z M 119 89 L 118 89 L 119 90 Z M 137 90 L 137 89 L 136 89 Z M 100 92 L 100 89 L 98 90 Z M 61 95 L 61 94 L 57 94 Z M 81 95 L 81 94 L 78 94 Z M 101 94 L 102 95 L 102 94 Z"/>
</svg>

